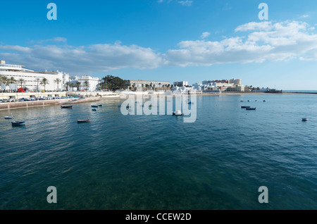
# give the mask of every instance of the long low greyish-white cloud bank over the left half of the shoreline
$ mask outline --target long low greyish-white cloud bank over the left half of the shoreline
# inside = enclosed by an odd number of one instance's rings
[[[120,68],[151,69],[163,65],[163,58],[152,49],[124,46],[120,42],[90,46],[0,46],[0,58],[6,58],[11,63],[23,63],[28,68],[58,69],[69,73],[106,72]]]

